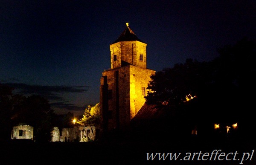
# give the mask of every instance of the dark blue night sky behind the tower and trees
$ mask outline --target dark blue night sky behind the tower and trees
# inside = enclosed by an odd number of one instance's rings
[[[49,99],[55,113],[99,102],[110,44],[130,28],[147,43],[147,67],[211,61],[217,48],[256,40],[255,0],[2,0],[0,83]]]

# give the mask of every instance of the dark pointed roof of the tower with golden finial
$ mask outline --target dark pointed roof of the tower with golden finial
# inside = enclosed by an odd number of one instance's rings
[[[140,41],[140,42],[143,42],[131,30],[131,28],[129,27],[129,23],[126,23],[125,30],[122,32],[122,34],[119,36],[119,38],[117,38],[117,40],[114,41],[113,43],[117,43],[119,41]],[[113,43],[111,43],[111,44],[113,44]],[[143,42],[143,43],[145,43],[145,42]]]

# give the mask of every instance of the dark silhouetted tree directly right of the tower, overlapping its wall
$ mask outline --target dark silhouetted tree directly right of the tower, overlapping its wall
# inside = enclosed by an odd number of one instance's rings
[[[145,96],[148,104],[155,104],[163,112],[161,122],[172,126],[173,133],[190,133],[190,126],[211,117],[206,108],[199,106],[201,98],[210,98],[205,89],[212,81],[212,63],[187,59],[184,64],[175,64],[151,76]],[[207,112],[204,118],[201,113]],[[207,118],[207,119],[206,119]]]

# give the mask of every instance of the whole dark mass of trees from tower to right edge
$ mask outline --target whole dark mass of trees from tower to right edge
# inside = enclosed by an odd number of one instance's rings
[[[180,121],[252,121],[247,119],[253,116],[256,92],[256,44],[244,38],[218,53],[209,62],[187,59],[156,72],[148,84],[147,102],[175,111],[174,119]],[[189,94],[195,97],[186,101]]]

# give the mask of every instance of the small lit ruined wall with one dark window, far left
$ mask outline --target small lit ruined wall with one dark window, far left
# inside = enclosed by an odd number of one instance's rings
[[[30,125],[18,125],[12,128],[11,139],[34,139],[34,128]]]

